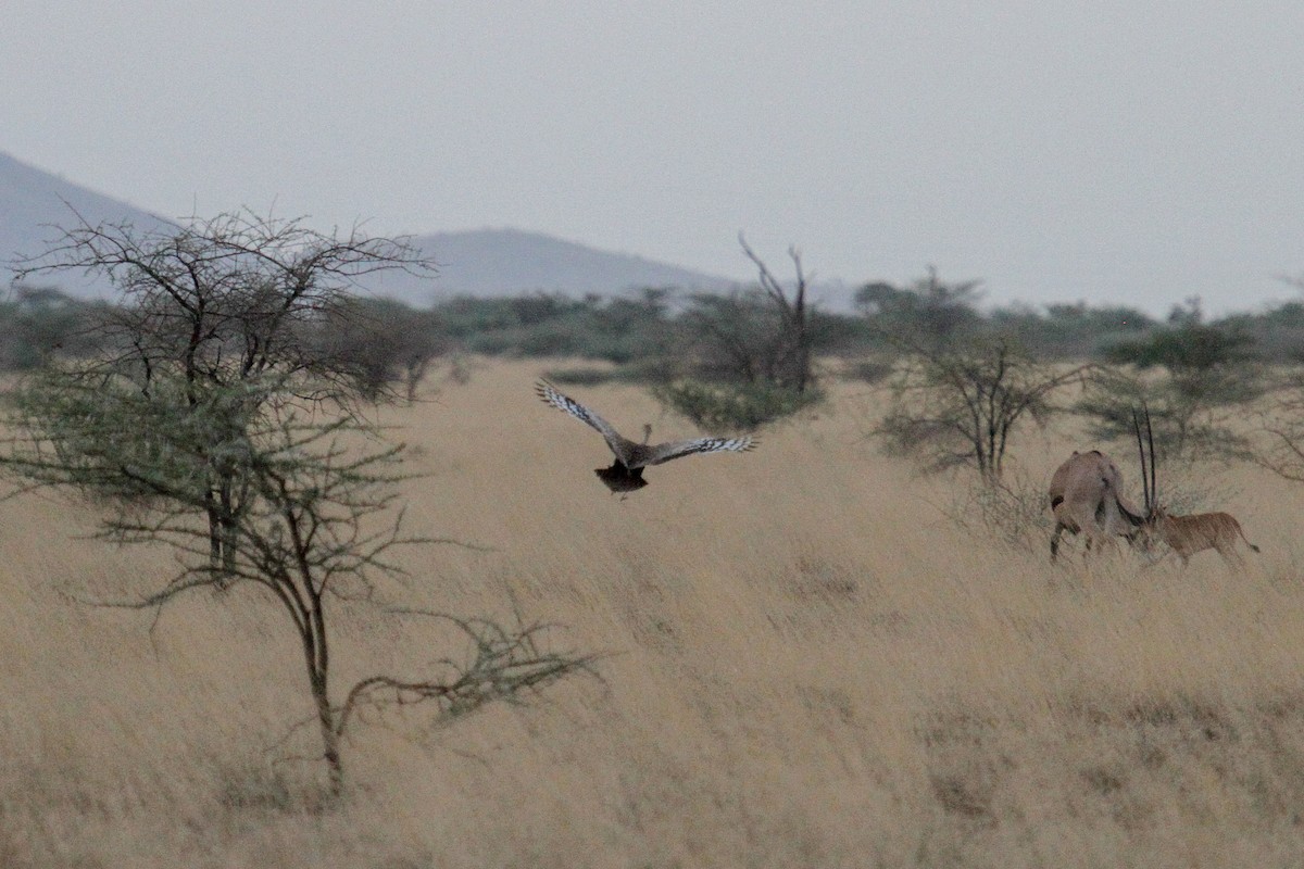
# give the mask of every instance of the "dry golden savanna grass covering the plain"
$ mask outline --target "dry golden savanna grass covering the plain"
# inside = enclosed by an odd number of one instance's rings
[[[961,530],[961,483],[880,456],[879,400],[842,383],[755,452],[619,500],[601,439],[533,396],[545,367],[477,363],[379,412],[425,474],[408,528],[484,550],[404,550],[406,585],[338,605],[333,677],[463,653],[374,606],[396,603],[552,623],[601,679],[442,728],[370,714],[330,803],[278,606],[91,606],[171,556],[86,538],[70,499],[4,502],[0,866],[1304,864],[1304,487],[1208,470],[1208,507],[1264,550],[1239,575],[1210,552],[1052,567]],[[632,387],[567,392],[631,434],[690,431]],[[1074,446],[1021,440],[1017,470],[1047,479]]]

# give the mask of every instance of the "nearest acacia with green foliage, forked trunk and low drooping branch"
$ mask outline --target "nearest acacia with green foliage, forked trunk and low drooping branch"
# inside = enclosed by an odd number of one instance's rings
[[[430,702],[455,715],[588,670],[588,657],[541,650],[540,625],[451,619],[472,641],[468,661],[447,659],[434,675],[370,676],[335,704],[333,608],[379,603],[385,580],[402,573],[390,559],[396,547],[452,541],[403,532],[402,446],[385,444],[355,416],[322,421],[319,412],[303,413],[286,400],[289,383],[282,374],[197,386],[156,373],[143,393],[133,378],[90,384],[46,373],[14,396],[7,421],[14,434],[0,466],[25,487],[133,495],[130,509],[103,516],[99,535],[170,546],[181,567],[170,578],[141,577],[146,588],[116,606],[163,607],[214,586],[248,588],[278,605],[304,655],[334,793],[344,783],[340,743],[361,705]],[[220,564],[210,558],[207,528],[196,521],[209,504],[214,468],[232,485],[235,506]]]

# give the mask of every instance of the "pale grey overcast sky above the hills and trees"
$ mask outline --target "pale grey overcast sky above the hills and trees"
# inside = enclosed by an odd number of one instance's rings
[[[168,218],[1251,310],[1304,274],[1304,3],[5,0],[0,151]]]

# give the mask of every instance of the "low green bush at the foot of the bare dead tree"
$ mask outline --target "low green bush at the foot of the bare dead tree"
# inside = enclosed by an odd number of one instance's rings
[[[798,392],[773,383],[709,384],[675,380],[652,387],[661,404],[692,420],[704,431],[726,435],[755,431],[763,425],[790,417],[822,400],[814,390]]]

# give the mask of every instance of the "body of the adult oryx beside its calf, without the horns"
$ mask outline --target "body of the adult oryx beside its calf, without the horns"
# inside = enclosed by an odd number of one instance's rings
[[[1145,517],[1121,495],[1121,489],[1123,474],[1112,459],[1099,449],[1073,451],[1051,477],[1050,504],[1055,516],[1051,562],[1059,555],[1064,532],[1084,534],[1088,551],[1093,542],[1136,539]]]

